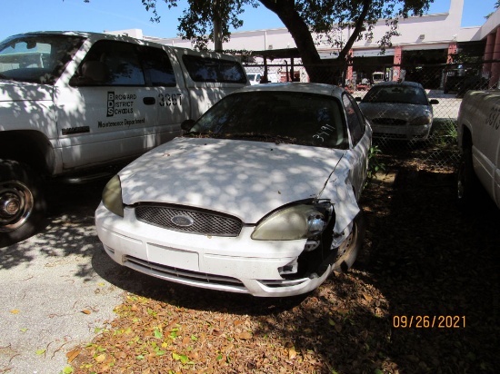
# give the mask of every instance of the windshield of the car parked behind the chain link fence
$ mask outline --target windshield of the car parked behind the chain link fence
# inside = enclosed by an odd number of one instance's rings
[[[425,91],[420,87],[394,84],[373,86],[362,103],[413,103],[428,105]]]

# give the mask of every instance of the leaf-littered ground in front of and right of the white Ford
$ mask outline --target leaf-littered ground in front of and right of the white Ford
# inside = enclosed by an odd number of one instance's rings
[[[134,271],[75,373],[500,372],[500,212],[455,204],[453,168],[388,157],[364,192],[365,248],[297,298],[197,290]]]

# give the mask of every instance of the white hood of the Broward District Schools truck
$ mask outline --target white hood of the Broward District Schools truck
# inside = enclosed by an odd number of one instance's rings
[[[50,101],[54,87],[0,79],[0,102]]]

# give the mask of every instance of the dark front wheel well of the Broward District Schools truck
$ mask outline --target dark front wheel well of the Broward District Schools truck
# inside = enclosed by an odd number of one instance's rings
[[[0,133],[0,159],[24,162],[38,172],[47,173],[54,164],[54,151],[43,133],[3,131]]]

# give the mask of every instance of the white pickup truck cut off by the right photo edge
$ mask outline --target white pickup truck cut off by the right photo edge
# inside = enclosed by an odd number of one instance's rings
[[[458,113],[459,202],[474,202],[480,182],[500,208],[500,91],[468,91]]]

